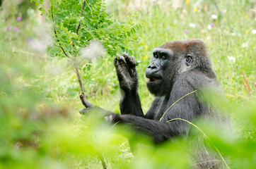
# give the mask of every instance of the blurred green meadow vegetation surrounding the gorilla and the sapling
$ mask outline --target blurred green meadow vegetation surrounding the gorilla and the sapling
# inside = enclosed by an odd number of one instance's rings
[[[136,68],[144,112],[153,100],[144,76],[152,49],[177,39],[206,43],[228,99],[216,104],[230,113],[235,136],[204,131],[230,157],[230,168],[255,168],[256,2],[109,0],[106,5],[112,18],[129,17],[141,24],[133,35],[136,40],[125,46],[140,61]],[[52,23],[41,23],[35,9],[30,1],[6,0],[1,5],[0,168],[184,168],[187,147],[180,142],[142,146],[134,158],[122,130],[80,117],[76,74],[68,59],[46,54]],[[92,104],[119,113],[112,61],[110,54],[84,61],[81,78]]]

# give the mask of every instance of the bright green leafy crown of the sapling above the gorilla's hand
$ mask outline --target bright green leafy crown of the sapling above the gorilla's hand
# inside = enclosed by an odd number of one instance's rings
[[[42,0],[37,1],[41,5],[40,11],[45,13],[42,3]],[[59,46],[66,54],[78,56],[80,49],[95,39],[105,46],[110,55],[123,51],[132,54],[127,43],[137,39],[134,33],[141,30],[141,25],[134,23],[132,18],[122,22],[113,19],[105,11],[105,1],[57,0],[51,1],[51,5],[48,21],[54,18],[56,35],[53,35],[54,45],[49,48],[50,56],[64,56]]]

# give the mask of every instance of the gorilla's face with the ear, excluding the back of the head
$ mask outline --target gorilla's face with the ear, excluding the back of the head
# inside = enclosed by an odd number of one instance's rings
[[[153,49],[151,64],[146,68],[149,91],[156,96],[170,94],[175,77],[195,67],[194,57],[182,41],[168,42]]]

